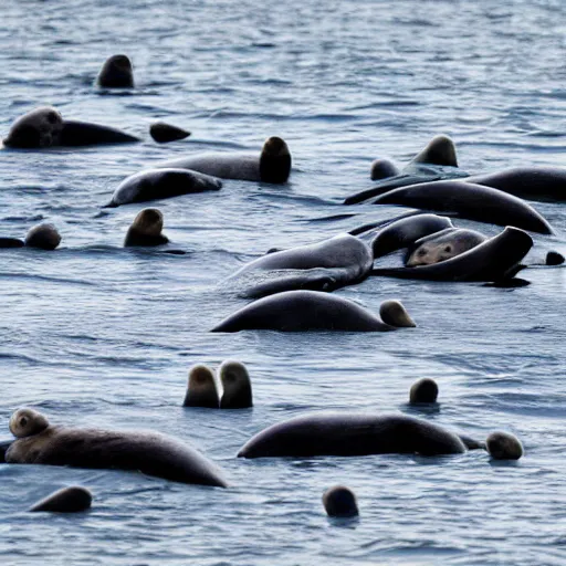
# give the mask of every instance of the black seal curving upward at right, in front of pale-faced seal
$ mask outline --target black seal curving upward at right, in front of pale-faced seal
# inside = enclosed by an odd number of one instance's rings
[[[533,239],[518,228],[507,227],[485,242],[431,265],[381,268],[371,275],[428,281],[502,281],[513,277],[524,265],[520,261],[533,247]]]

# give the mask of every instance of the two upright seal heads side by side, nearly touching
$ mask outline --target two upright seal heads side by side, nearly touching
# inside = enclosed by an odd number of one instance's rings
[[[222,395],[219,395],[219,385]],[[212,409],[247,409],[253,406],[252,384],[248,369],[240,361],[222,361],[218,379],[212,369],[197,364],[189,370],[189,384],[184,407],[209,407]]]

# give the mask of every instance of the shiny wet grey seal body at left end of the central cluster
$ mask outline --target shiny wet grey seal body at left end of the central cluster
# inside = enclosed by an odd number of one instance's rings
[[[228,282],[245,297],[310,289],[333,291],[364,281],[374,264],[368,244],[350,234],[273,251],[245,264]]]

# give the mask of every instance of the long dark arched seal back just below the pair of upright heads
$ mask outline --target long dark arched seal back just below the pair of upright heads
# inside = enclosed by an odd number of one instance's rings
[[[251,438],[239,458],[460,454],[462,439],[406,415],[308,413],[273,424]]]

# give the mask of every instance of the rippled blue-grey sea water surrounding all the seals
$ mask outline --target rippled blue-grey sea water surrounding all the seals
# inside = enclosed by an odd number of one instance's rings
[[[52,104],[145,139],[0,153],[1,233],[46,219],[63,234],[55,253],[1,253],[2,436],[22,405],[53,422],[150,428],[190,441],[233,484],[0,465],[2,564],[566,563],[564,269],[528,270],[532,285],[515,290],[371,279],[339,292],[373,311],[402,300],[415,331],[208,333],[244,304],[219,286],[243,262],[399,213],[339,205],[371,186],[376,157],[403,164],[446,133],[471,172],[566,165],[565,4],[54,0],[4,2],[0,15],[2,135]],[[120,52],[137,87],[97,91],[99,66]],[[147,134],[156,118],[193,135],[159,147]],[[189,253],[120,249],[144,206],[99,207],[125,176],[188,151],[259,150],[270,135],[293,154],[287,186],[227,181],[159,202]],[[565,253],[564,205],[535,207],[558,235],[536,237],[533,258]],[[313,221],[340,212],[358,216]],[[188,367],[230,357],[248,364],[255,407],[182,409]],[[525,458],[234,458],[303,411],[407,411],[418,377],[441,389],[427,418],[480,438],[511,430]],[[357,523],[324,515],[321,494],[338,482],[358,495]],[[24,512],[75,483],[94,492],[92,512]]]

